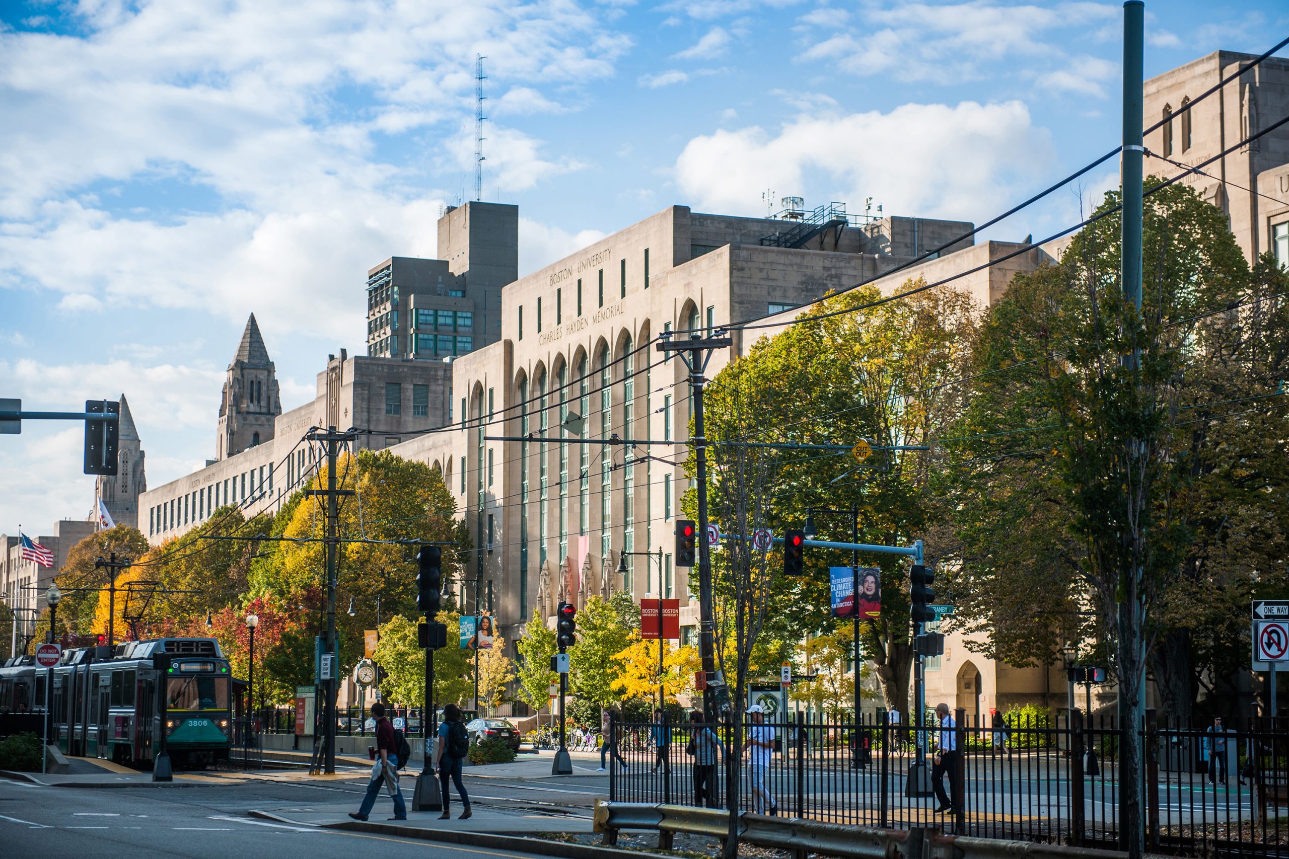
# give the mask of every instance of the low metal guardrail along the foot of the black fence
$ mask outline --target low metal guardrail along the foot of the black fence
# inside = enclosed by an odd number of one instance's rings
[[[597,802],[596,832],[605,844],[616,844],[619,829],[656,831],[663,836],[677,832],[724,840],[730,835],[730,813],[686,805],[648,802]],[[878,829],[821,823],[802,818],[767,817],[742,811],[739,815],[739,841],[758,847],[791,850],[844,859],[1123,859],[1121,853],[942,835],[933,829]],[[668,845],[669,846],[669,845]]]

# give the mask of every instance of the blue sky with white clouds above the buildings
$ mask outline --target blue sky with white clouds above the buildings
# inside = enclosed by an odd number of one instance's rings
[[[363,349],[362,281],[518,203],[521,273],[763,192],[984,222],[1119,139],[1120,6],[896,0],[0,4],[0,395],[122,390],[160,486],[213,453],[255,312],[287,408]],[[1146,73],[1261,53],[1276,3],[1147,3]],[[991,231],[1043,236],[1115,182]],[[986,237],[989,237],[986,236]],[[84,518],[80,428],[0,437],[0,531]]]

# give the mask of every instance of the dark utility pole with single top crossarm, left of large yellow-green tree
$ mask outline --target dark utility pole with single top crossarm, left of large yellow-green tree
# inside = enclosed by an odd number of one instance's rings
[[[690,398],[693,403],[693,438],[690,443],[697,455],[699,482],[699,657],[703,661],[703,674],[706,676],[706,689],[703,690],[703,712],[708,721],[715,720],[715,635],[712,616],[712,547],[708,546],[708,439],[703,428],[703,389],[706,379],[703,372],[715,349],[733,345],[730,337],[704,337],[699,331],[690,332],[688,341],[673,341],[670,334],[663,332],[657,350],[675,353],[690,370]]]

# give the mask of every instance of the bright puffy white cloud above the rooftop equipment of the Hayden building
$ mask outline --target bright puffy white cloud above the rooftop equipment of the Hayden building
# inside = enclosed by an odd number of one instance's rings
[[[777,134],[751,126],[693,138],[678,188],[705,211],[755,214],[755,188],[831,200],[873,196],[892,214],[980,219],[1053,160],[1020,102],[905,104],[889,113],[802,116]],[[971,165],[971,169],[963,169]]]

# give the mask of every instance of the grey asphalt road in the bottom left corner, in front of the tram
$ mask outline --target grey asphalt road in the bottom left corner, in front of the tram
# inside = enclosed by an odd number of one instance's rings
[[[41,787],[0,779],[0,859],[128,855],[130,859],[481,859],[521,853],[255,820],[249,809],[309,807],[352,797],[361,783],[246,782],[156,788]],[[407,791],[405,791],[407,792]],[[504,788],[492,791],[501,795]],[[410,793],[409,793],[410,796]],[[482,797],[481,797],[482,798]],[[376,813],[388,810],[388,800]],[[374,815],[375,817],[375,815]]]

